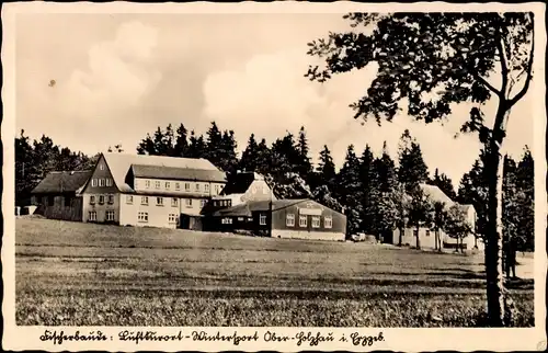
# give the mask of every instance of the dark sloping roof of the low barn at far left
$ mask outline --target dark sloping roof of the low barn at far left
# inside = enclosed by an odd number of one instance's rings
[[[32,191],[33,194],[56,194],[77,192],[82,187],[92,171],[55,171],[49,172],[36,187]]]

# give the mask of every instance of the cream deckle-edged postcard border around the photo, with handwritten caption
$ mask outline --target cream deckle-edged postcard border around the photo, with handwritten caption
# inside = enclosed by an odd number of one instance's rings
[[[79,330],[81,333],[90,331],[101,331],[106,341],[67,341],[64,344],[54,345],[52,341],[43,342],[41,337],[44,334],[45,327],[16,327],[15,326],[15,291],[14,291],[14,156],[12,141],[15,136],[15,89],[14,89],[14,31],[15,16],[18,13],[269,13],[269,12],[294,12],[294,13],[329,13],[339,12],[341,14],[351,11],[363,12],[392,12],[392,11],[429,11],[429,12],[449,12],[449,11],[534,11],[537,26],[535,33],[539,43],[535,53],[535,76],[538,78],[545,76],[543,58],[546,56],[546,29],[545,24],[545,4],[521,3],[460,3],[449,4],[443,2],[416,2],[416,3],[384,3],[384,4],[364,4],[353,2],[334,3],[307,3],[294,1],[277,1],[271,3],[212,3],[212,2],[192,2],[192,3],[155,3],[138,4],[128,2],[110,3],[47,3],[41,1],[25,3],[7,3],[2,5],[3,24],[3,45],[2,45],[2,66],[3,66],[3,90],[2,101],[4,104],[4,119],[2,123],[2,141],[4,141],[4,164],[3,178],[4,189],[2,196],[4,232],[2,247],[3,284],[4,297],[2,303],[3,312],[3,342],[5,350],[44,350],[44,351],[83,351],[83,350],[106,350],[106,351],[372,351],[372,350],[393,350],[404,352],[435,351],[435,350],[455,350],[455,351],[535,351],[546,350],[546,307],[545,307],[545,287],[547,258],[544,252],[546,237],[546,156],[545,156],[545,132],[546,132],[546,86],[543,80],[536,80],[535,87],[532,87],[529,94],[535,94],[535,130],[534,130],[534,155],[539,162],[535,163],[535,232],[538,235],[535,239],[535,327],[524,329],[383,329],[383,328],[117,328],[117,327],[57,327],[49,330],[64,330],[70,334]],[[192,331],[204,330],[208,334],[215,335],[217,331],[221,334],[230,335],[235,331],[238,334],[254,334],[258,332],[260,340],[258,342],[242,341],[239,345],[233,342],[195,342],[192,339],[182,341],[153,342],[146,341],[135,344],[135,342],[123,342],[117,340],[118,332],[147,331],[153,330],[158,334],[178,334],[182,331],[183,335],[190,335]],[[333,341],[320,342],[318,345],[310,345],[304,342],[297,345],[296,341],[272,342],[262,338],[270,332],[276,332],[278,335],[293,335],[298,332],[311,332],[313,335],[320,333],[329,337],[330,333],[335,338]],[[377,337],[383,332],[384,340],[377,341],[373,345],[354,345],[352,340],[341,342],[339,340],[343,334],[349,338],[353,332],[359,335]]]

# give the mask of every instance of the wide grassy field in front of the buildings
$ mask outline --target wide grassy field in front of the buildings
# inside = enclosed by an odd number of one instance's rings
[[[481,326],[481,254],[16,220],[16,322]],[[533,281],[512,284],[529,327]]]

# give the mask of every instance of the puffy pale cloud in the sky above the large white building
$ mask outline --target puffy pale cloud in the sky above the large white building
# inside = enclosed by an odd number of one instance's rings
[[[160,71],[148,65],[157,41],[153,27],[128,22],[118,27],[114,41],[93,45],[89,68],[75,70],[64,87],[64,96],[73,98],[67,100],[67,113],[98,118],[114,105],[137,105],[161,79]],[[113,117],[109,115],[103,116]]]

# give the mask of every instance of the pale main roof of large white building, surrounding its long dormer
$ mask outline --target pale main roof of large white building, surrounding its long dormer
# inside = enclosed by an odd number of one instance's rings
[[[104,153],[104,159],[109,169],[111,170],[114,183],[121,192],[133,192],[134,190],[126,183],[126,175],[132,166],[149,166],[156,167],[157,170],[147,169],[146,171],[153,171],[158,174],[160,171],[173,173],[174,169],[192,169],[208,171],[215,175],[215,180],[220,181],[221,172],[210,161],[203,158],[179,158],[179,157],[163,157],[163,156],[145,156],[145,155],[127,155],[127,153]],[[226,176],[225,176],[226,178]]]

